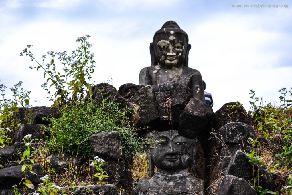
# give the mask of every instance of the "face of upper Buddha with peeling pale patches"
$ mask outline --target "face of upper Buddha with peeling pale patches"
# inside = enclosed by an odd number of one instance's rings
[[[187,37],[173,31],[159,33],[154,37],[153,46],[159,64],[180,66],[187,53]]]

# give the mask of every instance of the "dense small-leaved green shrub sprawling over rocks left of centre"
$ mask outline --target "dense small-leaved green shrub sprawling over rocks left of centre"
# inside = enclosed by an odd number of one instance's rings
[[[94,106],[93,100],[90,100],[60,107],[60,118],[51,119],[50,139],[47,142],[49,149],[92,156],[88,143],[92,134],[118,131],[124,155],[138,154],[142,151],[142,144],[136,138],[136,131],[126,116],[129,110],[122,110],[118,106],[118,103],[107,100]]]

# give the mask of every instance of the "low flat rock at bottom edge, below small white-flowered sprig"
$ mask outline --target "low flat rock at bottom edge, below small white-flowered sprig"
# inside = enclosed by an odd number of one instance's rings
[[[92,192],[86,193],[87,189],[90,188]],[[115,185],[105,184],[105,185],[89,185],[78,188],[74,195],[118,195],[118,191]]]

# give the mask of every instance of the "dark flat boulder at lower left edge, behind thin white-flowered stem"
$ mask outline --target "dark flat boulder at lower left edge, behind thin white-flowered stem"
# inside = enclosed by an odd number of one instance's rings
[[[0,169],[0,188],[12,187],[14,184],[19,184],[22,178],[25,178],[25,173],[21,171],[22,165]],[[27,173],[26,178],[34,184],[40,184],[40,177],[44,175],[41,165],[32,165],[32,172]]]

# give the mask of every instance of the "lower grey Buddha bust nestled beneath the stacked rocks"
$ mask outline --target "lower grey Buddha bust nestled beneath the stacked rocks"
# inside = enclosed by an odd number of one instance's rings
[[[204,194],[203,180],[190,175],[188,167],[194,139],[178,135],[178,131],[153,131],[149,137],[158,140],[149,147],[149,177],[138,182],[139,195]],[[154,174],[154,165],[157,172]]]

